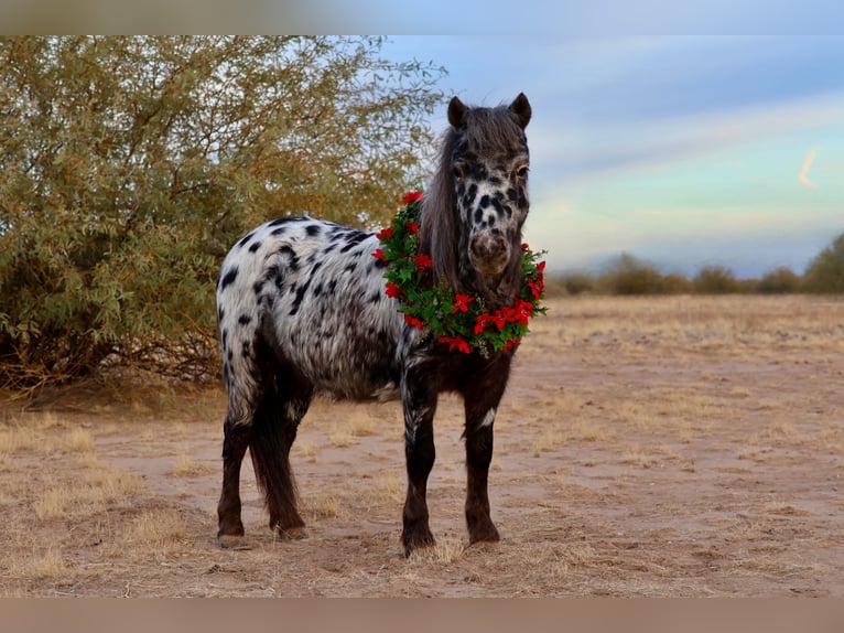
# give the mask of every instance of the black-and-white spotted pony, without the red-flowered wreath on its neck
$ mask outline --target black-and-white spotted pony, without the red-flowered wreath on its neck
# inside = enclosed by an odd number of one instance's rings
[[[422,202],[420,250],[431,256],[435,279],[483,298],[490,311],[511,304],[522,285],[530,117],[523,94],[495,108],[469,108],[454,97],[440,167]],[[405,555],[433,545],[425,492],[443,390],[462,394],[465,403],[469,541],[498,540],[487,473],[515,348],[488,357],[448,352],[407,325],[385,293],[385,265],[371,257],[378,247],[369,232],[284,217],[246,235],[226,257],[217,285],[228,389],[223,547],[244,535],[239,480],[247,448],[270,528],[282,538],[303,536],[289,453],[315,394],[355,400],[401,395],[408,472],[402,544]]]

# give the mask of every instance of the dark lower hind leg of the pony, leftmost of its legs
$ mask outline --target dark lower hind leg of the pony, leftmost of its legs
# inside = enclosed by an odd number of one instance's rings
[[[226,416],[223,440],[223,491],[217,505],[217,541],[220,547],[237,547],[244,537],[240,519],[240,464],[252,437],[250,422]]]

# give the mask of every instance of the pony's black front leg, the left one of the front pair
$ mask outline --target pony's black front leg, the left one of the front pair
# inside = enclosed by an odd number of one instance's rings
[[[428,525],[426,493],[428,475],[436,457],[433,421],[437,389],[429,380],[414,371],[407,372],[402,380],[404,455],[408,468],[408,494],[401,533],[404,556],[410,556],[414,549],[434,545],[434,536]]]

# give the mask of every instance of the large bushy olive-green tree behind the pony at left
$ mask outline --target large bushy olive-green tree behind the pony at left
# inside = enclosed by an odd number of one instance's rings
[[[423,181],[444,71],[370,37],[0,39],[0,387],[216,369],[248,228],[375,225]]]

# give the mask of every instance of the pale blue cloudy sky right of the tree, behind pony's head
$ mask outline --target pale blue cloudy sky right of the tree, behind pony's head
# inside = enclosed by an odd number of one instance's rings
[[[398,35],[382,53],[444,66],[467,103],[528,95],[526,236],[552,268],[627,251],[802,272],[844,232],[844,36]]]

